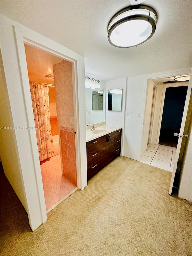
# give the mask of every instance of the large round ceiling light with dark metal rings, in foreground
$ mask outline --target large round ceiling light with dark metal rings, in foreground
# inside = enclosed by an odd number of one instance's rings
[[[108,25],[108,40],[128,48],[144,43],[155,33],[157,13],[145,5],[129,6],[116,13]]]

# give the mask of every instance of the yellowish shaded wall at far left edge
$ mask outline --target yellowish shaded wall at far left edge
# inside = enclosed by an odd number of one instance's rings
[[[4,69],[1,59],[1,119],[0,126],[13,127],[13,120],[10,111],[8,92],[4,77]],[[22,174],[20,172],[19,159],[16,154],[16,143],[14,129],[0,129],[1,134],[1,159],[4,168],[5,176],[10,182],[13,190],[21,201],[23,207],[27,211],[26,195],[22,182]]]

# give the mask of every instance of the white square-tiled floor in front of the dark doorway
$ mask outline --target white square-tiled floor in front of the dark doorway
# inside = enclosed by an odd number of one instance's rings
[[[148,144],[141,162],[172,172],[176,149],[170,146]]]

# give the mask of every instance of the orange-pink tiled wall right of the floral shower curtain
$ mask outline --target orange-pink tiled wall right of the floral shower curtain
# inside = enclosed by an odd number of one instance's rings
[[[53,73],[63,174],[76,185],[75,130],[70,123],[70,118],[74,119],[71,62],[63,60],[53,65]]]

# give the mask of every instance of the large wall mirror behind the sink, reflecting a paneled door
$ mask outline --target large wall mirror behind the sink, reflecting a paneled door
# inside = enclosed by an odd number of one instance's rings
[[[105,122],[105,95],[104,89],[85,88],[86,125]]]

